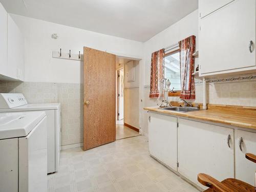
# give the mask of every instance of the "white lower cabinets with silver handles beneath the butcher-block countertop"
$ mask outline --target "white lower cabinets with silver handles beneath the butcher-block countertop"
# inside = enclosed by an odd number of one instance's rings
[[[148,146],[153,157],[201,188],[207,187],[198,182],[199,173],[254,185],[256,163],[245,154],[256,154],[255,131],[150,112]]]

